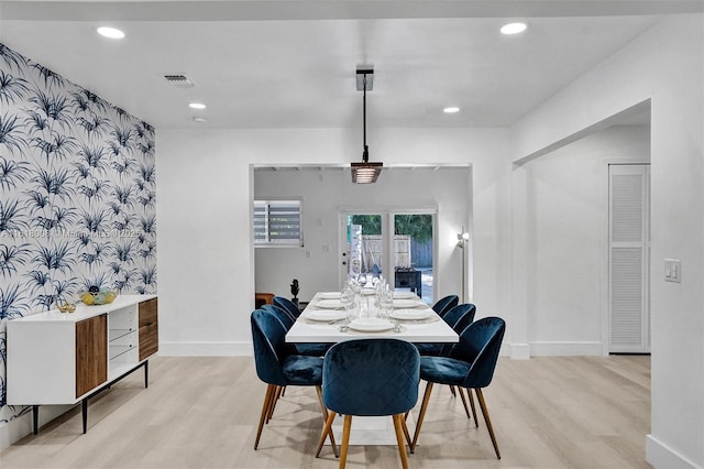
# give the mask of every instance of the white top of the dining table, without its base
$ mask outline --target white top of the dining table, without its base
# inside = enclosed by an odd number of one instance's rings
[[[311,320],[308,315],[315,310],[324,310],[316,307],[316,302],[321,299],[320,294],[310,301],[306,309],[300,314],[294,326],[286,334],[287,342],[340,342],[343,340],[354,340],[362,338],[392,338],[408,340],[410,342],[457,342],[459,337],[448,324],[442,320],[428,305],[414,307],[413,310],[429,309],[432,315],[427,319],[419,320],[396,320],[402,327],[400,332],[386,330],[381,332],[363,332],[353,329],[340,331],[340,326],[344,320],[337,323],[324,320]],[[328,309],[330,310],[330,309]],[[331,324],[332,323],[332,324]]]

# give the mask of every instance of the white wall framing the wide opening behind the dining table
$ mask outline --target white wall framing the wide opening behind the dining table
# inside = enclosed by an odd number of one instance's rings
[[[250,165],[349,164],[361,160],[358,137],[356,129],[157,131],[162,355],[252,352]],[[475,280],[474,301],[495,315],[507,313],[508,285],[497,281],[507,277],[506,141],[495,129],[377,129],[369,139],[371,160],[385,164],[472,164],[474,265],[493,275]],[[458,227],[440,229],[455,236]]]

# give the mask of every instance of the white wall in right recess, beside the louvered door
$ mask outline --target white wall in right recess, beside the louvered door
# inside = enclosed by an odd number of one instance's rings
[[[531,356],[607,351],[608,164],[636,162],[650,162],[649,128],[609,128],[526,165]]]

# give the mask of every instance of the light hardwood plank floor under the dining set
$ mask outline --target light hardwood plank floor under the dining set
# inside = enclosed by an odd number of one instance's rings
[[[252,358],[155,358],[148,389],[138,371],[91,400],[86,435],[77,406],[0,452],[0,468],[337,468],[329,446],[314,457],[322,425],[314,389],[288,389],[253,449],[265,389]],[[502,358],[484,395],[501,460],[481,416],[476,428],[436,386],[409,467],[650,467],[649,357]],[[353,446],[348,467],[400,459],[395,446]]]

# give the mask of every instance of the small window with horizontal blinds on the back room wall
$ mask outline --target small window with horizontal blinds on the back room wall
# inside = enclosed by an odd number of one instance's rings
[[[304,246],[300,200],[254,200],[254,246]]]

